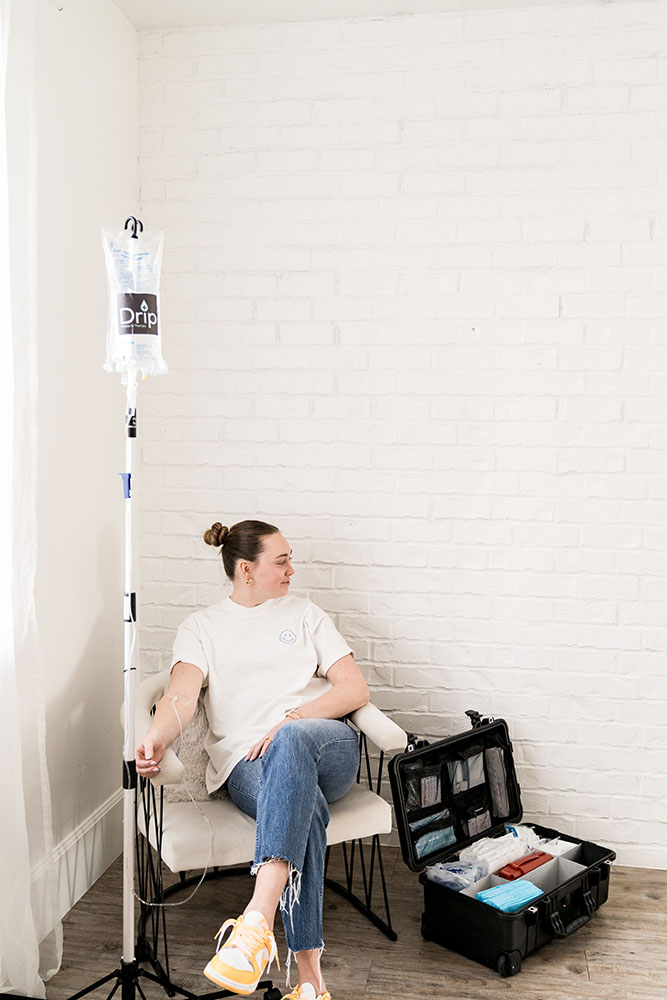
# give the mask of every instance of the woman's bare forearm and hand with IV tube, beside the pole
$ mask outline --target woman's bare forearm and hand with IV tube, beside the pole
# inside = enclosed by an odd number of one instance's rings
[[[171,671],[169,687],[157,703],[155,715],[143,740],[137,744],[137,774],[150,778],[160,770],[164,752],[181,735],[195,714],[204,675],[194,663],[179,660]]]

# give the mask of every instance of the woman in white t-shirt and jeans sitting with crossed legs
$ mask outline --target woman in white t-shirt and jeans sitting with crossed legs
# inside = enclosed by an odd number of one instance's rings
[[[278,528],[216,523],[204,541],[221,547],[233,590],[179,628],[169,688],[137,746],[137,772],[159,771],[205,686],[208,790],[226,783],[239,809],[256,818],[257,840],[252,898],[223,923],[204,974],[223,989],[253,993],[276,957],[280,905],[288,970],[293,953],[299,971],[288,996],[330,1000],[320,970],[327,803],[356,779],[357,739],[340,720],[368,702],[368,687],[331,619],[290,596],[292,552]]]

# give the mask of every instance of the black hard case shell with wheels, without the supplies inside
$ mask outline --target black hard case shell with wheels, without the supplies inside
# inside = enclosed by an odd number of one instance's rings
[[[427,865],[454,860],[459,851],[482,837],[505,834],[505,825],[518,823],[523,815],[507,723],[502,719],[481,719],[476,712],[466,714],[471,718],[472,730],[433,744],[413,741],[405,753],[398,754],[389,763],[401,850],[408,867],[421,872],[419,880],[424,886],[422,936],[496,969],[502,976],[513,976],[521,970],[521,962],[527,955],[554,938],[573,934],[588,923],[607,899],[610,867],[616,855],[608,848],[535,826],[541,836],[571,841],[572,848],[567,857],[554,858],[541,872],[537,869],[525,876],[538,884],[544,895],[517,913],[503,913],[475,898],[477,891],[495,884],[489,876],[461,892],[428,879],[423,873]],[[448,765],[454,766],[453,762],[470,759],[471,752],[491,747],[501,748],[505,765],[508,815],[503,817],[493,813],[486,764],[481,784],[463,793],[452,793]],[[439,802],[409,808],[408,780],[420,769],[422,773],[440,775]],[[414,800],[410,805],[414,806]],[[466,816],[474,816],[485,806],[490,826],[470,835]],[[420,834],[413,833],[409,824],[443,808],[448,808],[454,817],[456,842],[418,856],[416,845]]]

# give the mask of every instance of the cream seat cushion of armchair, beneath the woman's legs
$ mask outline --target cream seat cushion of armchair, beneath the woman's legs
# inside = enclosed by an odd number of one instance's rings
[[[388,802],[361,785],[329,806],[327,843],[391,832]],[[209,826],[210,824],[210,826]],[[138,825],[145,835],[141,810]],[[150,841],[155,847],[151,825]],[[231,799],[206,802],[165,802],[162,860],[172,872],[250,863],[255,852],[255,821]]]

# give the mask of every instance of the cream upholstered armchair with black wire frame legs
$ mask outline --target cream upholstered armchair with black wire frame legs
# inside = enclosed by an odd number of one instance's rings
[[[153,706],[162,697],[168,683],[169,673],[164,671],[153,674],[137,687],[138,737],[148,729]],[[327,828],[327,867],[331,847],[341,844],[345,878],[343,882],[339,882],[327,876],[325,884],[348,899],[391,940],[396,940],[391,926],[380,845],[380,835],[391,832],[392,814],[391,806],[379,793],[384,755],[404,750],[407,736],[372,704],[352,712],[348,721],[359,733],[360,779],[363,772],[365,780],[363,783],[359,780],[342,799],[329,806],[331,819]],[[200,881],[203,869],[207,870],[206,878],[222,878],[240,872],[247,873],[248,865],[252,862],[255,850],[254,819],[242,813],[224,795],[206,795],[203,777],[207,757],[202,736],[207,727],[200,700],[195,717],[184,734],[184,742],[188,734],[194,734],[189,747],[181,746],[179,754],[172,748],[167,750],[160,763],[160,773],[150,780],[143,779],[138,783],[138,878],[142,899],[161,902],[173,892]],[[379,750],[375,775],[369,740]],[[188,791],[178,791],[182,783],[185,783]],[[174,798],[180,801],[173,801]],[[364,844],[364,840],[369,839],[370,844]],[[164,887],[162,867],[156,855],[170,871],[178,873],[179,882]],[[357,857],[360,872],[356,872],[355,883]],[[244,867],[239,868],[241,865]],[[197,874],[192,874],[193,872]],[[379,873],[381,883],[384,917],[374,909],[376,873]],[[357,883],[360,883],[359,891],[354,888]],[[164,910],[160,907],[143,906],[139,920],[138,955],[163,973],[157,956],[160,939],[163,941],[166,979],[169,981]],[[170,985],[173,986],[171,983]],[[178,990],[176,987],[175,989]]]

